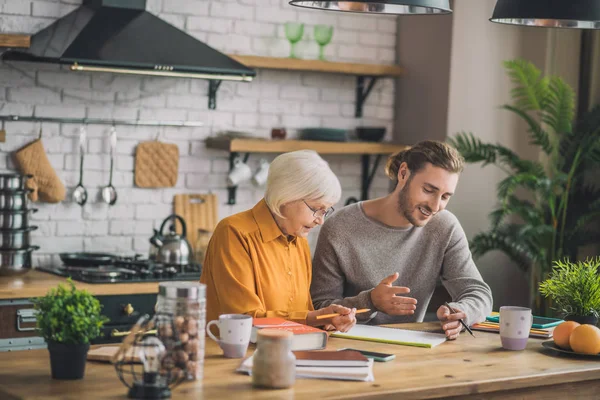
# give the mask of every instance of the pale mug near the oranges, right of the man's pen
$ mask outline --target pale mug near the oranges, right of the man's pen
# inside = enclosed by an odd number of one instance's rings
[[[529,330],[533,324],[531,308],[500,307],[500,341],[507,350],[523,350],[527,347]]]

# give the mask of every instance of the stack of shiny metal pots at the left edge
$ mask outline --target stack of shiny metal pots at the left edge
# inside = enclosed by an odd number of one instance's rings
[[[31,269],[30,233],[37,226],[29,225],[29,216],[36,209],[28,208],[25,182],[31,175],[0,174],[0,275],[24,274]]]

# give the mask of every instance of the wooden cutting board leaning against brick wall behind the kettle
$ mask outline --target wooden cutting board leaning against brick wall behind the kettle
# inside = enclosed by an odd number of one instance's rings
[[[217,196],[214,194],[178,194],[173,197],[175,214],[185,220],[187,239],[195,248],[198,229],[214,231],[218,222]],[[177,232],[181,234],[181,226],[176,223]]]

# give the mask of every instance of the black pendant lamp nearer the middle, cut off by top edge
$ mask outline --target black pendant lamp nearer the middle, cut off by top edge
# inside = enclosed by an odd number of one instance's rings
[[[360,12],[373,14],[449,14],[449,0],[291,0],[298,7],[317,8],[330,11]]]

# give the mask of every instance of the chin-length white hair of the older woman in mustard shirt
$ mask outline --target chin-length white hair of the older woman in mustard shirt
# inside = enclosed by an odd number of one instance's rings
[[[283,218],[281,206],[298,200],[336,204],[342,186],[329,164],[315,151],[299,150],[276,157],[269,167],[265,201]]]

